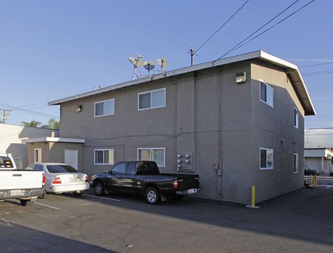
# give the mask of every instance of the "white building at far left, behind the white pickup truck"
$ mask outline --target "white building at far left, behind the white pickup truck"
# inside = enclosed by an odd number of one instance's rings
[[[38,138],[42,136],[59,136],[59,130],[23,127],[22,125],[0,124],[0,153],[12,154],[17,168],[25,168],[28,163],[28,144],[23,139]]]

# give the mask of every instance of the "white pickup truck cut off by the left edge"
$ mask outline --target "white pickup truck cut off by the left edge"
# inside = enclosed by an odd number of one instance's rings
[[[27,206],[44,193],[43,172],[18,170],[11,155],[0,153],[0,201],[19,199],[23,206]]]

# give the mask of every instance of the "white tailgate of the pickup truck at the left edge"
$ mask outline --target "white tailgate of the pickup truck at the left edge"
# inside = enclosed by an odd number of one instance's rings
[[[0,170],[1,189],[41,188],[43,172],[40,171],[7,171]]]

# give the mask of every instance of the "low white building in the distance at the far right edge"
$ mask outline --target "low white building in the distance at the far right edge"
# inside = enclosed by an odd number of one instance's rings
[[[328,174],[333,172],[332,149],[313,148],[304,151],[305,170],[317,171],[320,174]]]

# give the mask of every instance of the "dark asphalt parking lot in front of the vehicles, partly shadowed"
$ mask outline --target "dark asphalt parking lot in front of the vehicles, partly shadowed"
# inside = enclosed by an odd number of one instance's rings
[[[1,252],[332,252],[333,180],[245,205],[185,197],[49,195],[0,202]]]

